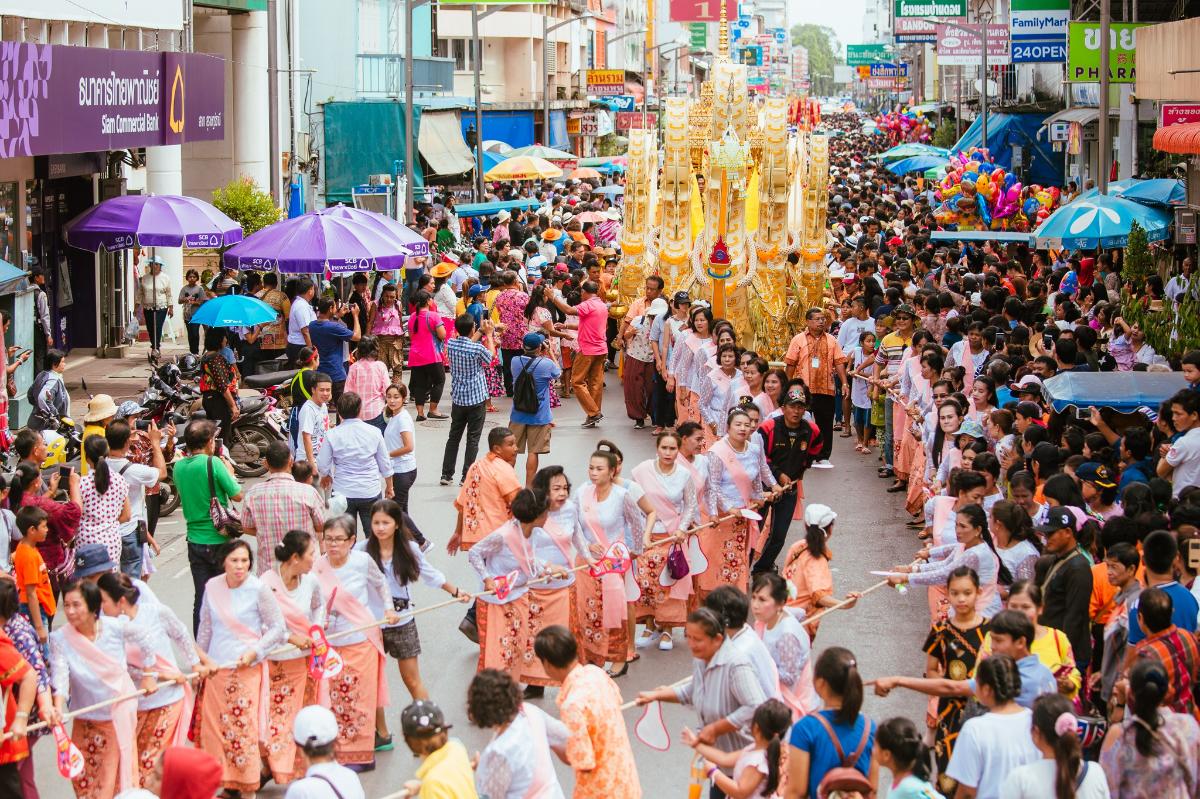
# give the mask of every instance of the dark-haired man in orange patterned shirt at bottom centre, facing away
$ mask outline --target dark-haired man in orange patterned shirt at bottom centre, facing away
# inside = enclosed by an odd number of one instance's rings
[[[566,726],[575,795],[641,799],[634,750],[620,715],[620,689],[599,666],[580,662],[575,636],[564,626],[542,629],[533,649],[546,674],[563,684],[556,703]]]

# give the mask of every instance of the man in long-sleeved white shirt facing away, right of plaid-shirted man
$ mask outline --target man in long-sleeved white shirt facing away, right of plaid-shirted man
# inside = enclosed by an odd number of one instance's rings
[[[325,433],[325,444],[317,453],[320,486],[332,487],[346,498],[346,512],[358,518],[364,530],[371,529],[371,506],[383,495],[390,499],[391,456],[383,433],[374,425],[359,419],[362,398],[347,391],[337,398],[337,415],[342,423]]]

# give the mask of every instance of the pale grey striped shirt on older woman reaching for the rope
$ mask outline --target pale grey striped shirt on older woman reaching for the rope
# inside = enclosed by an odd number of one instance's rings
[[[718,737],[716,747],[736,752],[754,743],[750,721],[755,709],[767,701],[750,659],[732,639],[726,638],[716,654],[706,663],[692,661],[691,681],[674,689],[679,704],[690,704],[702,725],[727,719],[738,732]]]

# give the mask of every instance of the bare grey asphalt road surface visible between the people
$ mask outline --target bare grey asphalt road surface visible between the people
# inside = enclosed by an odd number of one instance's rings
[[[509,401],[500,398],[497,403],[500,410],[488,414],[488,428],[508,419]],[[563,407],[554,411],[557,427],[553,431],[551,453],[542,456],[541,464],[564,465],[572,482],[578,485],[587,479],[586,455],[602,438],[612,439],[623,450],[626,474],[632,465],[653,455],[649,428],[635,431],[632,422],[625,419],[620,384],[614,372],[608,373],[605,411],[606,416],[598,428],[583,429],[580,427],[583,414],[578,404],[574,398],[565,398]],[[410,500],[413,516],[425,535],[434,541],[434,547],[428,553],[431,561],[444,570],[455,584],[478,590],[478,578],[466,557],[451,558],[444,546],[454,531],[452,503],[458,491],[457,485],[438,486],[449,421],[418,422],[416,427],[418,480]],[[907,513],[904,511],[902,494],[884,492],[887,481],[876,477],[877,455],[854,452],[852,441],[853,439],[835,435],[832,458],[834,468],[812,469],[804,479],[806,501],[824,503],[838,512],[830,546],[834,553],[834,587],[839,595],[871,585],[878,581],[870,573],[871,570],[908,563],[918,548],[916,536],[905,528]],[[486,450],[486,429],[481,450]],[[517,474],[523,475],[523,469],[522,456],[517,463]],[[803,525],[793,523],[787,546],[802,534]],[[163,551],[155,564],[157,572],[151,577],[150,585],[186,621],[192,607],[192,583],[184,522],[179,511],[160,522],[158,541],[163,545]],[[414,599],[420,607],[442,601],[445,595],[418,585],[414,588]],[[422,647],[420,666],[431,698],[442,705],[454,723],[451,734],[474,753],[486,745],[488,735],[473,728],[467,721],[466,690],[475,673],[479,650],[458,632],[461,617],[462,611],[451,606],[418,618]],[[924,667],[920,645],[928,631],[928,619],[922,589],[900,594],[884,587],[865,596],[853,609],[826,617],[815,650],[820,653],[830,645],[850,648],[858,656],[864,679],[900,673],[918,675]],[[58,620],[58,624],[64,623],[61,618]],[[691,656],[682,633],[677,632],[672,651],[660,651],[656,648],[642,650],[641,660],[617,681],[624,699],[629,701],[640,690],[666,685],[690,673]],[[362,775],[368,799],[398,791],[404,780],[413,777],[418,765],[398,734],[400,711],[408,703],[409,696],[395,666],[389,672],[389,680],[392,705],[388,709],[388,721],[395,734],[396,749],[380,753],[376,770]],[[536,702],[551,714],[557,714],[554,693],[554,690],[547,690],[546,697]],[[868,687],[865,710],[876,721],[906,715],[923,726],[925,701],[922,696],[905,691],[896,691],[890,697],[880,699],[871,696]],[[630,729],[638,714],[640,710],[636,709],[626,711]],[[664,719],[671,735],[671,746],[666,752],[654,751],[634,740],[637,777],[644,795],[683,795],[686,789],[692,752],[680,743],[679,731],[686,726],[695,727],[696,716],[686,708],[666,705]],[[41,795],[46,799],[67,799],[73,793],[55,771],[53,756],[53,740],[41,740],[35,749]],[[570,795],[570,769],[558,764],[558,774],[564,793]],[[283,793],[282,788],[272,783],[259,795],[282,797]]]

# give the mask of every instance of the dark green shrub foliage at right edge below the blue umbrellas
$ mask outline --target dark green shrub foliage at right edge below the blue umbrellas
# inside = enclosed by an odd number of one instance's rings
[[[1154,257],[1146,240],[1146,232],[1136,222],[1129,228],[1124,266],[1121,277],[1121,316],[1126,323],[1138,325],[1146,334],[1146,343],[1164,358],[1175,360],[1186,352],[1200,348],[1200,281],[1194,276],[1186,287],[1180,304],[1164,300],[1159,307],[1146,295],[1146,280],[1156,274]]]

